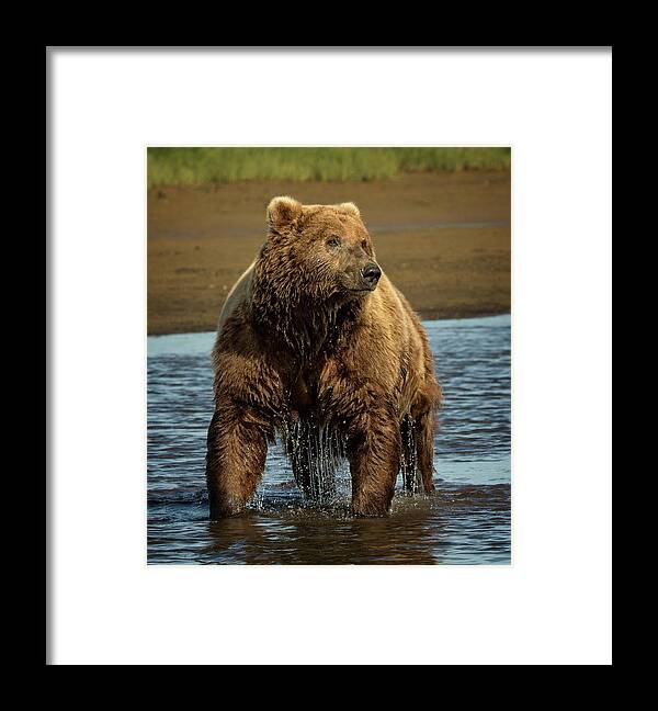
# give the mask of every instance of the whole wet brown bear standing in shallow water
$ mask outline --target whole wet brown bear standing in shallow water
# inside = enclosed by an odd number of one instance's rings
[[[407,490],[422,481],[432,493],[432,353],[356,205],[274,198],[266,216],[266,241],[226,300],[213,350],[211,518],[245,509],[276,432],[310,497],[330,495],[349,460],[356,516],[388,511],[400,469]]]

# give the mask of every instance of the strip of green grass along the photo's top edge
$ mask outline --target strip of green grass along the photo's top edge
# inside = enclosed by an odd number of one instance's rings
[[[148,187],[383,180],[405,172],[509,167],[509,148],[149,148]]]

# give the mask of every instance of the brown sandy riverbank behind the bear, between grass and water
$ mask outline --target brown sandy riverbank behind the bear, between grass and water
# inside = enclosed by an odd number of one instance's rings
[[[148,332],[214,330],[226,294],[264,239],[274,195],[355,202],[377,260],[426,318],[510,309],[508,172],[382,182],[243,182],[148,193]]]

